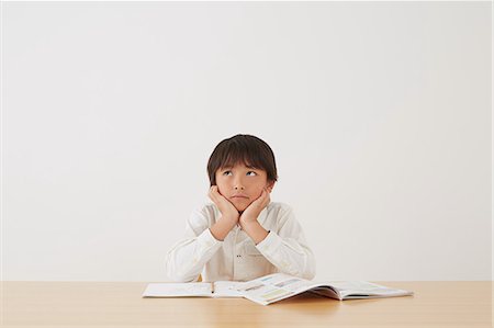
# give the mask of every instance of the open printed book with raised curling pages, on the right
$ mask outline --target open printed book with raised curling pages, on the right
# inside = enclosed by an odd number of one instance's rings
[[[340,301],[413,295],[413,292],[390,289],[364,281],[314,282],[283,273],[265,275],[234,289],[245,298],[261,305],[268,305],[304,292]]]

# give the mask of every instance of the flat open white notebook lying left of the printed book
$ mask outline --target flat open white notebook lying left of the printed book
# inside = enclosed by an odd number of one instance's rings
[[[238,281],[150,283],[143,297],[244,297],[235,287]]]

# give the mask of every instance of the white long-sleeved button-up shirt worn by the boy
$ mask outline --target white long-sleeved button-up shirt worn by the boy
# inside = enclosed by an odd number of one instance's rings
[[[289,205],[271,202],[261,211],[258,222],[269,234],[258,245],[238,225],[223,241],[214,238],[209,228],[220,217],[214,203],[192,213],[184,237],[166,256],[167,281],[197,281],[201,272],[204,282],[248,281],[274,272],[314,278],[314,255]]]

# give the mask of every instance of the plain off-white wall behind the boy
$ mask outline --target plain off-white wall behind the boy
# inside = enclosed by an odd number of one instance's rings
[[[160,281],[223,138],[319,280],[491,280],[490,2],[3,2],[2,279]]]

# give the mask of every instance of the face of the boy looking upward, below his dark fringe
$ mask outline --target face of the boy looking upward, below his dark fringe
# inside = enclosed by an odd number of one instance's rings
[[[220,193],[227,199],[238,212],[257,200],[262,189],[269,192],[274,186],[274,181],[268,181],[265,170],[237,163],[229,168],[220,168],[216,171],[216,184]]]

